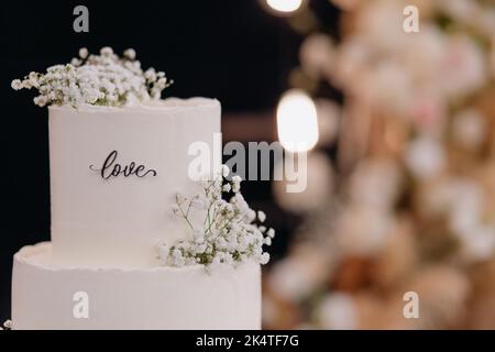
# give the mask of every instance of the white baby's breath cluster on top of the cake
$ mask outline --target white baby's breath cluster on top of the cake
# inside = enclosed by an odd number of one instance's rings
[[[162,90],[168,87],[163,72],[148,68],[143,72],[132,48],[119,57],[112,48],[103,47],[100,55],[90,55],[79,50],[79,57],[70,64],[55,65],[46,74],[30,73],[24,79],[14,79],[12,88],[37,89],[34,103],[69,105],[78,108],[84,103],[122,107],[138,101],[160,99]]]

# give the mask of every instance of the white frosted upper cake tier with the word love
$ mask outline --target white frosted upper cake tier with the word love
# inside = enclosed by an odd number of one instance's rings
[[[154,245],[184,238],[172,217],[177,191],[198,184],[187,169],[190,143],[220,132],[220,103],[206,98],[167,99],[127,108],[50,108],[52,241],[64,265],[140,267],[156,264]],[[103,179],[111,151],[116,163],[155,169],[156,176]],[[220,155],[212,161],[221,163]],[[109,170],[110,172],[110,170]],[[199,216],[198,216],[199,218]]]

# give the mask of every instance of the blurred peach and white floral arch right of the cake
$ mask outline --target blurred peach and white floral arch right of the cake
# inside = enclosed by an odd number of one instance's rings
[[[265,277],[264,324],[495,329],[495,2],[332,2],[340,38],[310,7],[287,19],[305,35],[289,82],[314,95],[320,140],[309,194],[274,186],[305,222]],[[410,290],[419,319],[403,316]]]

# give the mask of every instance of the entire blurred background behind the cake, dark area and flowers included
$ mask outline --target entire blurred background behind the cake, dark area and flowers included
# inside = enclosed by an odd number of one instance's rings
[[[80,3],[89,33],[72,30]],[[417,33],[403,29],[408,4],[419,10]],[[286,193],[284,180],[244,185],[277,230],[265,328],[495,329],[495,1],[54,1],[0,11],[0,320],[10,316],[12,255],[50,239],[47,113],[10,81],[81,46],[111,45],[164,69],[175,80],[166,96],[218,98],[224,142],[296,130],[308,145],[304,193]],[[403,315],[406,292],[419,295],[419,319]]]

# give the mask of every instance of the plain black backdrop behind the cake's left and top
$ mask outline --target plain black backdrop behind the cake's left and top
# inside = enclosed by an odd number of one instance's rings
[[[89,9],[89,33],[73,31],[77,4]],[[67,63],[81,46],[94,53],[107,45],[117,53],[133,47],[144,68],[165,70],[175,80],[165,96],[221,101],[226,141],[266,140],[275,136],[274,107],[288,88],[301,37],[255,0],[9,1],[0,11],[2,322],[10,318],[12,255],[50,239],[47,110],[34,106],[34,92],[12,90],[12,79]],[[334,14],[329,4],[326,11]],[[237,119],[246,113],[262,118],[243,132]],[[249,183],[245,193],[277,229],[273,254],[283,255],[297,219],[271,201],[267,182]]]

